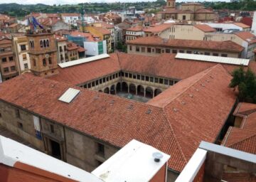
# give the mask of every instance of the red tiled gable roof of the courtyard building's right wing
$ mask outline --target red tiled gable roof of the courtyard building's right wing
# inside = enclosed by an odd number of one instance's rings
[[[228,87],[230,80],[223,66],[215,65],[147,102],[164,109],[186,159],[196,150],[199,138],[209,142],[217,139],[235,105],[235,94]]]

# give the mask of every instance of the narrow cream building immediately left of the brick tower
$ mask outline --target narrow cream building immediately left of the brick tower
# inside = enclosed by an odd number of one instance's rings
[[[12,38],[18,75],[28,72],[31,69],[31,61],[28,55],[28,39],[25,35]]]

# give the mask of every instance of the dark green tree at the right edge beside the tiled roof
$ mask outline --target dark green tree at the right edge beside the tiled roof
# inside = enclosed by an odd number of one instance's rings
[[[232,73],[233,79],[230,82],[230,87],[238,88],[238,99],[240,102],[256,103],[256,76],[252,70],[247,71],[240,67]]]

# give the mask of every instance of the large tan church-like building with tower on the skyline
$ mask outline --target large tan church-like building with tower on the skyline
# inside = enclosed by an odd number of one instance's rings
[[[157,18],[159,21],[169,18],[179,21],[213,21],[215,13],[196,2],[181,4],[181,9],[176,9],[175,1],[171,0],[166,2],[166,9],[160,11]]]

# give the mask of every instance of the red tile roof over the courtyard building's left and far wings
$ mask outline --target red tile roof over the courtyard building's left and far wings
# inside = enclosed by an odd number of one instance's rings
[[[61,82],[72,83],[73,85],[79,85],[123,70],[132,73],[181,80],[218,64],[196,60],[176,59],[175,55],[176,54],[165,53],[158,57],[154,57],[126,53],[112,53],[110,54],[110,58],[75,65],[69,68],[58,68],[59,74],[49,78]],[[238,65],[222,65],[228,73],[232,73],[235,68],[238,68]],[[250,62],[249,67],[256,72],[255,62]]]

